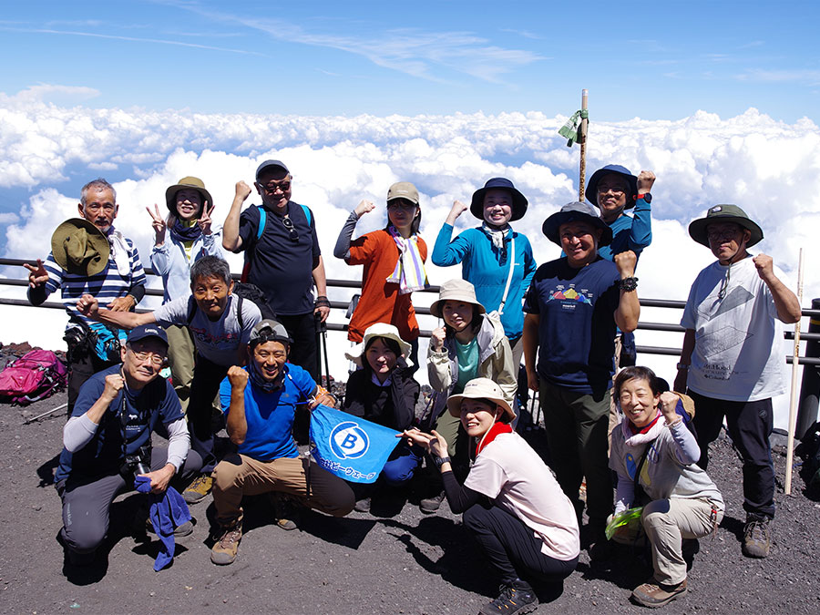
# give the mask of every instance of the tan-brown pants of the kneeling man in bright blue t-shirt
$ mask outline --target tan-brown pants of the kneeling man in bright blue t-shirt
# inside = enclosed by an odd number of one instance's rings
[[[305,471],[310,463],[311,494]],[[301,498],[312,508],[333,517],[353,510],[353,490],[341,478],[302,457],[259,461],[244,455],[226,456],[213,470],[213,504],[220,525],[230,526],[242,517],[242,496],[280,491]]]

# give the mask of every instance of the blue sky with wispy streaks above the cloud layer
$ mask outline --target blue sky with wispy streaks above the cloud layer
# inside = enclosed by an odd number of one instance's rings
[[[815,2],[28,2],[0,92],[93,108],[820,120]],[[14,58],[10,61],[9,58]]]

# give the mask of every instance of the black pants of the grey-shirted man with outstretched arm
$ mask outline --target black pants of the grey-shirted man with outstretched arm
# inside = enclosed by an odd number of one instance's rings
[[[202,458],[202,474],[210,474],[216,466],[211,409],[213,398],[219,393],[220,384],[227,374],[228,367],[211,363],[201,354],[197,354],[194,377],[190,384],[188,429],[190,448]]]

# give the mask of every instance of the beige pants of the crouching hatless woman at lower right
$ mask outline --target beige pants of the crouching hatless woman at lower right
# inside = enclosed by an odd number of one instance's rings
[[[682,539],[708,536],[721,519],[723,511],[705,499],[656,499],[643,507],[641,524],[652,545],[655,580],[677,585],[686,579]]]

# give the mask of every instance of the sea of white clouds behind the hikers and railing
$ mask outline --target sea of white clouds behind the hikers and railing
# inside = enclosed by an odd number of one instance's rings
[[[186,175],[204,179],[217,205],[214,217],[223,220],[235,183],[250,183],[262,159],[279,158],[292,169],[294,200],[310,205],[317,214],[331,278],[361,276],[358,269],[333,258],[333,244],[348,212],[359,200],[374,200],[378,209],[360,222],[358,231],[381,227],[386,190],[400,179],[415,182],[422,193],[422,234],[431,249],[453,200],[467,202],[490,177],[513,179],[530,202],[528,215],[515,226],[533,242],[538,262],[548,261],[559,249],[543,238],[541,223],[560,205],[575,200],[578,192],[579,149],[568,149],[557,134],[564,120],[535,112],[415,118],[202,115],[64,108],[3,97],[0,194],[3,187],[32,190],[19,211],[6,207],[0,214],[6,225],[6,256],[45,256],[57,221],[76,214],[86,176],[133,169],[130,179],[116,184],[121,205],[117,223],[137,241],[148,262],[151,229],[144,207],[155,202],[164,207],[167,186]],[[760,250],[773,255],[793,287],[798,249],[805,248],[807,263],[820,259],[815,240],[820,229],[820,129],[807,119],[785,124],[749,109],[726,119],[701,111],[674,121],[593,123],[588,152],[588,177],[610,162],[635,172],[652,169],[658,177],[652,190],[653,242],[641,257],[638,272],[642,297],[686,298],[696,273],[712,260],[708,250],[689,239],[686,227],[719,202],[737,203],[761,223],[766,238]],[[89,172],[75,186],[52,186],[67,176],[68,169],[76,175],[77,168]],[[250,201],[259,198],[254,193]],[[466,213],[456,230],[476,222]],[[229,261],[234,271],[241,269],[240,257],[231,255]],[[457,267],[443,270],[432,265],[428,271],[435,284],[460,273]],[[341,301],[350,294],[333,290],[331,298]],[[815,296],[820,296],[820,280],[807,274],[804,305]],[[415,295],[418,305],[429,305],[433,299]],[[3,313],[0,341],[19,341],[24,331],[21,318],[36,318],[37,327],[25,330],[34,332],[36,339],[61,344],[64,319],[41,320],[41,311],[20,308],[4,308]],[[646,309],[642,319],[676,323],[680,313]],[[343,323],[343,315],[334,314],[333,322]],[[422,321],[423,328],[435,324]],[[346,342],[340,333],[331,333],[330,339],[333,370],[342,373],[341,349]],[[641,331],[638,341],[679,346],[681,336]],[[646,361],[671,379],[672,359]]]

